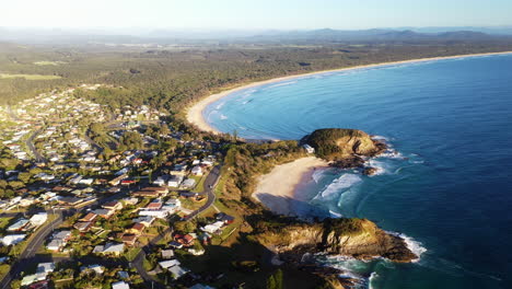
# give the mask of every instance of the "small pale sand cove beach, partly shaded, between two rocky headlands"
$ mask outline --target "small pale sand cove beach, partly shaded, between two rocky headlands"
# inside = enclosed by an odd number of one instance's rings
[[[277,165],[258,180],[253,197],[271,211],[295,215],[295,192],[301,183],[312,177],[315,169],[327,167],[328,163],[316,157],[305,157],[290,163]]]

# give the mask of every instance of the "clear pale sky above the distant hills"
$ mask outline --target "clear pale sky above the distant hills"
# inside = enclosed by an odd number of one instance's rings
[[[512,25],[512,0],[0,0],[0,26],[370,28]]]

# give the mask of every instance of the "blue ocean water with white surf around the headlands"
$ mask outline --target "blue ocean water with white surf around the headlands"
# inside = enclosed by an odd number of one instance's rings
[[[330,258],[369,288],[512,288],[512,55],[303,77],[231,94],[203,112],[246,138],[358,128],[397,153],[375,176],[315,175],[310,204],[416,241],[412,264]]]

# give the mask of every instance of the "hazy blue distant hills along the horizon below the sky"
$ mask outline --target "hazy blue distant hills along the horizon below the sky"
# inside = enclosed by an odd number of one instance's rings
[[[0,27],[0,42],[27,44],[179,44],[179,43],[350,43],[512,41],[512,27],[476,28],[373,28],[311,31],[176,31],[176,30],[50,30]]]

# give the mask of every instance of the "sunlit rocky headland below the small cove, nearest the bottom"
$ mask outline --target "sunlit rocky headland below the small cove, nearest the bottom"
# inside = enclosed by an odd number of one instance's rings
[[[327,253],[359,259],[385,257],[407,263],[416,256],[405,241],[379,229],[366,219],[325,219],[318,223],[294,223],[257,235],[261,244],[284,258],[305,253]]]

